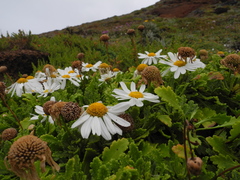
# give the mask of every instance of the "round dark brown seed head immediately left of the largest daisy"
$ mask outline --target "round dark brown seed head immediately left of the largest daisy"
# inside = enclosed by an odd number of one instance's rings
[[[61,109],[61,115],[67,122],[76,120],[80,117],[82,108],[79,107],[78,103],[68,102]]]

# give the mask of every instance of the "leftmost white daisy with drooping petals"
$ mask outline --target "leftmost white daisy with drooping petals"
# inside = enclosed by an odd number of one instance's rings
[[[33,93],[41,84],[33,76],[27,78],[19,78],[14,84],[8,87],[8,93],[13,96],[15,93],[21,97],[23,93]]]

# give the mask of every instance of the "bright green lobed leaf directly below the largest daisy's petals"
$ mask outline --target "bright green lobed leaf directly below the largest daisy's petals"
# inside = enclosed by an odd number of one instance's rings
[[[105,147],[102,153],[102,159],[104,162],[108,162],[111,159],[118,159],[121,154],[128,149],[129,141],[125,138],[113,141],[110,148]]]

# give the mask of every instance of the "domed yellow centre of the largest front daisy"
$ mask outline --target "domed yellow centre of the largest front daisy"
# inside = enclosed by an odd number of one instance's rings
[[[86,111],[91,116],[102,117],[108,112],[108,108],[104,104],[96,102],[90,104]]]

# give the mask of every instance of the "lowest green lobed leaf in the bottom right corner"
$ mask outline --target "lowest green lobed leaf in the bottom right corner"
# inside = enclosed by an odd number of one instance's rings
[[[228,155],[219,154],[216,156],[211,156],[213,164],[216,164],[219,169],[227,169],[233,166],[239,165],[238,162],[233,161],[233,159]]]

